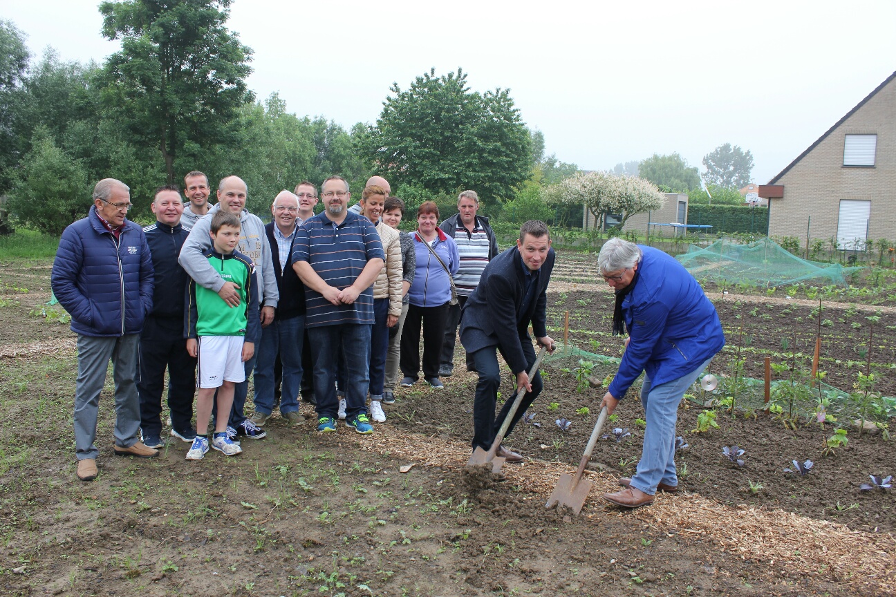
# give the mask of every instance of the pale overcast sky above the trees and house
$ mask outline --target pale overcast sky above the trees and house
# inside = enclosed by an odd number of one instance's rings
[[[35,55],[101,62],[94,0],[0,0]],[[896,2],[290,2],[236,0],[249,87],[290,112],[375,123],[392,82],[459,66],[510,88],[547,152],[583,169],[722,143],[766,183],[896,71]]]

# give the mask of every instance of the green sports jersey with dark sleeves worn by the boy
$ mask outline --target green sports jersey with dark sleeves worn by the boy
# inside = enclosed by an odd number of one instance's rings
[[[245,336],[246,342],[257,342],[261,335],[261,321],[252,260],[237,251],[222,255],[214,249],[203,256],[225,282],[239,286],[237,293],[240,303],[238,307],[230,307],[211,288],[190,280],[186,304],[187,337]]]

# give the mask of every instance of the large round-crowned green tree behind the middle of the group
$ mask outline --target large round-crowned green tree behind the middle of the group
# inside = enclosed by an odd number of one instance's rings
[[[401,90],[398,83],[363,143],[365,157],[393,188],[475,189],[489,201],[513,196],[533,164],[530,133],[508,90],[470,91],[458,69],[435,68]]]

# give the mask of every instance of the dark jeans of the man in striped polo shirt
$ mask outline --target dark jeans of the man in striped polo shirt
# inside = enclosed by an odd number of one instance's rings
[[[367,414],[367,386],[370,383],[370,325],[346,323],[308,329],[308,339],[314,346],[314,395],[318,417],[336,418],[339,399],[336,397],[336,378],[340,359],[346,363],[345,399],[346,418],[351,421],[358,414]]]

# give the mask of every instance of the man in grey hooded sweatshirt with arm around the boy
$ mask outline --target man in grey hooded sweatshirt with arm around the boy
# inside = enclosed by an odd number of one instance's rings
[[[186,237],[184,247],[180,251],[177,262],[196,284],[209,288],[219,294],[230,307],[239,305],[239,294],[233,282],[225,282],[224,278],[211,267],[204,253],[211,248],[211,218],[221,209],[239,217],[239,252],[251,258],[255,265],[256,283],[258,287],[258,303],[262,305],[262,327],[268,326],[274,319],[274,310],[280,300],[277,289],[277,278],[274,276],[271,260],[271,245],[268,244],[262,220],[246,209],[246,183],[238,176],[227,176],[218,183],[218,204],[209,209],[209,213],[196,222],[190,235]],[[249,439],[262,439],[267,435],[254,422],[246,419],[243,405],[249,388],[249,378],[254,370],[254,357],[246,361],[246,381],[237,384],[234,393],[233,407],[229,414],[228,433],[234,436],[245,436]],[[218,413],[216,412],[216,416]],[[231,438],[233,439],[233,438]]]

